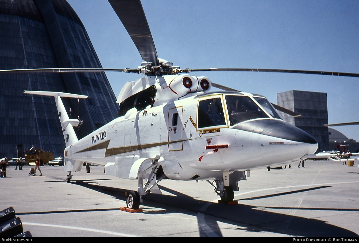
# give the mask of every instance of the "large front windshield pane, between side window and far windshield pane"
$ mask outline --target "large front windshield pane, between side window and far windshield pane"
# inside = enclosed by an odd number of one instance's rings
[[[268,118],[264,111],[248,96],[227,95],[225,100],[231,126],[246,120]]]

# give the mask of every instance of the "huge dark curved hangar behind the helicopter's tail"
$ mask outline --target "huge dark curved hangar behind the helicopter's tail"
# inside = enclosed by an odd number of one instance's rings
[[[65,0],[0,0],[0,69],[101,68],[80,19]],[[64,100],[83,125],[84,137],[117,116],[119,106],[105,73],[1,74],[0,158],[20,157],[38,146],[63,155],[65,143],[52,97],[24,90],[88,95]]]

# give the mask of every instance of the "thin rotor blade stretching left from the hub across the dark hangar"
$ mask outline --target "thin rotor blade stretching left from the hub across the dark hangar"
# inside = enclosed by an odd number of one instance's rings
[[[0,70],[1,73],[30,73],[30,72],[37,72],[37,73],[50,73],[50,72],[58,72],[58,73],[65,73],[65,72],[134,72],[138,73],[138,69],[119,69],[119,68],[31,68],[31,69],[9,69],[9,70]]]

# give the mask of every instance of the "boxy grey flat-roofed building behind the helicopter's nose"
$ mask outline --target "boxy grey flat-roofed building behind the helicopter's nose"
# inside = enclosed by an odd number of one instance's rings
[[[284,120],[311,134],[318,141],[318,151],[328,151],[329,137],[327,94],[291,90],[277,94],[277,104],[301,114],[299,117],[280,112]]]

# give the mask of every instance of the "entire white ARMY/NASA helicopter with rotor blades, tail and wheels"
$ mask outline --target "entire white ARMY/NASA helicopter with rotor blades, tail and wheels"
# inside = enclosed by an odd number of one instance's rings
[[[194,71],[258,71],[354,76],[355,73],[248,68],[180,69],[157,56],[140,0],[109,0],[134,41],[142,59],[136,69],[55,68],[0,72],[122,71],[144,76],[127,82],[117,103],[118,118],[78,140],[61,97],[86,95],[49,91],[25,94],[53,96],[63,128],[66,181],[84,162],[102,165],[107,175],[137,179],[138,190],[127,194],[127,208],[138,209],[147,193],[161,193],[163,179],[207,180],[223,202],[234,199],[238,181],[250,169],[299,161],[313,154],[317,141],[284,121],[262,95],[212,83]],[[134,24],[136,23],[136,24]],[[211,87],[223,89],[210,92]],[[211,182],[213,181],[213,182]]]

